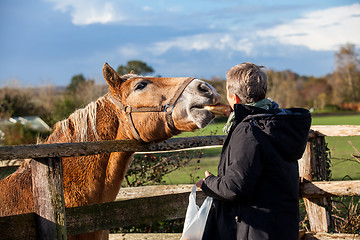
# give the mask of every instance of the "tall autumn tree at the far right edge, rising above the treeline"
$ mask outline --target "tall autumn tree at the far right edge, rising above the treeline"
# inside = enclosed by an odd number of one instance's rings
[[[335,103],[360,101],[360,58],[354,44],[341,46],[335,53],[333,74]]]

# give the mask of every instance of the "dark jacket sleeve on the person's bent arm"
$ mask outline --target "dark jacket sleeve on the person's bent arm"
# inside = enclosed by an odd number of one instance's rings
[[[263,170],[263,151],[255,139],[253,128],[237,127],[228,145],[228,164],[223,176],[211,175],[205,179],[203,192],[222,201],[251,198]]]

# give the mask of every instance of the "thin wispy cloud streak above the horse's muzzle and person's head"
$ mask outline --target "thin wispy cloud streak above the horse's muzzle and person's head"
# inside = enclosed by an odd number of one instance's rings
[[[231,34],[208,33],[157,42],[150,47],[153,54],[156,55],[161,55],[171,48],[179,48],[185,51],[229,49],[243,51],[249,54],[253,48],[253,44],[248,39],[238,38]]]

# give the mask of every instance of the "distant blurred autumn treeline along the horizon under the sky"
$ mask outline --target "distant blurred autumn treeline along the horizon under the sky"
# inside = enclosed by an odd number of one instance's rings
[[[304,59],[306,61],[306,59]],[[267,70],[268,97],[280,107],[305,107],[322,110],[350,106],[360,102],[360,59],[355,45],[342,46],[334,56],[335,70],[324,77],[300,76],[290,70]],[[153,69],[141,61],[129,61],[119,66],[119,74],[130,69],[147,74]],[[212,84],[226,102],[224,79],[205,79]],[[107,92],[107,86],[97,85],[82,74],[75,75],[66,88],[54,86],[38,88],[4,87],[0,89],[0,118],[11,116],[39,116],[50,126],[86,106]],[[356,105],[356,104],[355,104]]]

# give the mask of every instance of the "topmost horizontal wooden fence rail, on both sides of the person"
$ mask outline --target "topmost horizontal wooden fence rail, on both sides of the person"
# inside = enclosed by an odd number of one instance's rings
[[[313,125],[309,137],[325,136],[360,136],[360,125]],[[204,146],[222,146],[226,136],[198,136],[171,138],[160,143],[142,143],[136,140],[110,140],[99,142],[55,143],[38,145],[1,146],[0,166],[17,165],[17,161],[27,158],[74,157],[110,152],[161,152]],[[17,159],[13,160],[13,159]],[[12,161],[11,161],[12,160]],[[7,165],[7,163],[9,163]]]

